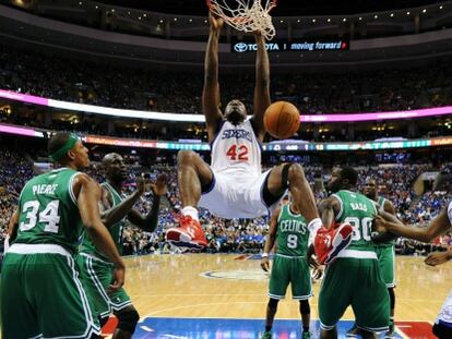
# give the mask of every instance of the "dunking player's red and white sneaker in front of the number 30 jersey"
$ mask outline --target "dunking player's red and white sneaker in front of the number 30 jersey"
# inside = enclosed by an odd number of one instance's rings
[[[320,264],[331,264],[352,242],[353,227],[348,222],[341,223],[330,230],[322,227],[314,239],[314,251]]]

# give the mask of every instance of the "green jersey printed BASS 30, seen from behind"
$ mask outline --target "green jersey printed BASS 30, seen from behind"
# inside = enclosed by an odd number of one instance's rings
[[[333,196],[341,203],[336,221],[348,222],[354,228],[347,250],[373,251],[371,232],[372,220],[377,215],[376,203],[362,194],[345,190],[338,191]]]

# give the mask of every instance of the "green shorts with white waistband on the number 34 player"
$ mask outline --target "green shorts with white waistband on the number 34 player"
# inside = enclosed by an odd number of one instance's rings
[[[97,316],[71,254],[55,244],[13,244],[0,286],[3,339],[90,338]]]

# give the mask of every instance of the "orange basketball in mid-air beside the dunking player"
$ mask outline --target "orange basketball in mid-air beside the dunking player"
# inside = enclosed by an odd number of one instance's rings
[[[273,137],[287,138],[298,131],[300,113],[290,102],[276,101],[265,110],[264,125]]]

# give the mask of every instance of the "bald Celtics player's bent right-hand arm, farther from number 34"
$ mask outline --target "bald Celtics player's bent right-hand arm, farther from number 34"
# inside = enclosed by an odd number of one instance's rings
[[[158,223],[158,209],[160,207],[160,197],[166,194],[167,191],[167,177],[166,174],[159,174],[157,181],[152,185],[152,192],[154,194],[154,201],[152,203],[151,211],[147,216],[143,217],[136,209],[132,209],[129,215],[129,221],[141,228],[143,231],[153,232]]]

